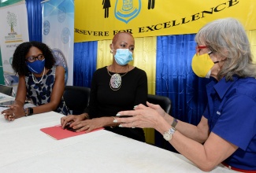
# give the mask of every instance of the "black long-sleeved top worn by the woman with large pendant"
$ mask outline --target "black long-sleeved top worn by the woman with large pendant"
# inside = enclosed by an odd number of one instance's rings
[[[127,74],[120,73],[121,88],[112,90],[109,86],[110,75],[107,68],[96,70],[91,81],[90,102],[87,112],[90,118],[102,116],[116,116],[117,112],[132,110],[135,105],[146,105],[147,101],[147,74],[139,68],[133,68]],[[125,75],[124,75],[125,74]],[[126,127],[106,127],[106,130],[145,142],[143,129]]]

